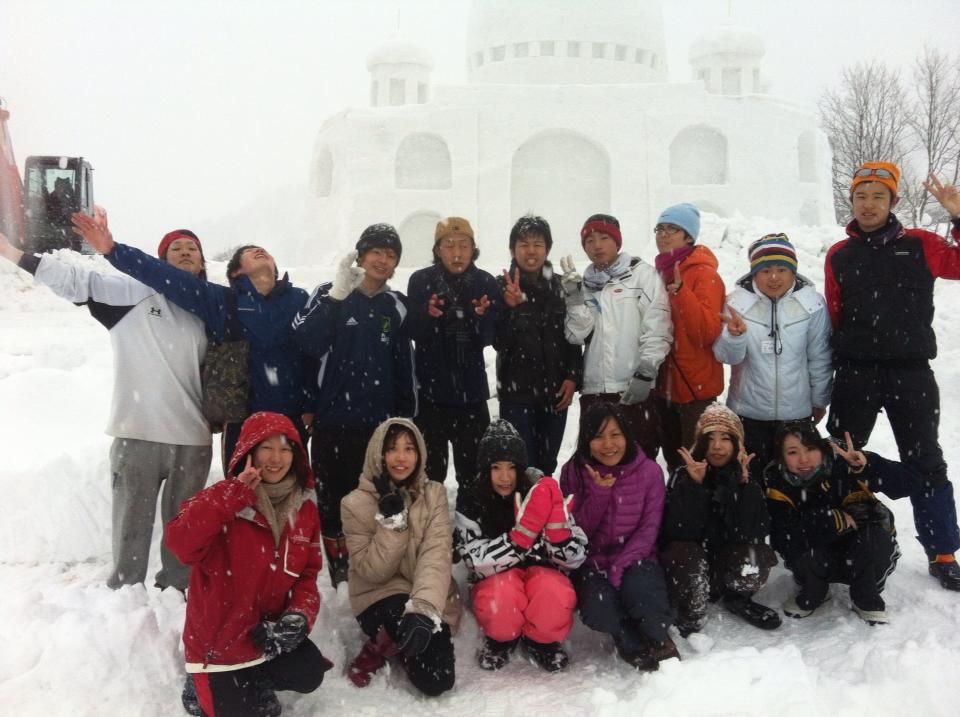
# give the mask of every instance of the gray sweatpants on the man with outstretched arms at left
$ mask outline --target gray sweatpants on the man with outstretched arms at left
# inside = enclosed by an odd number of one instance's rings
[[[108,587],[135,585],[146,579],[161,484],[160,519],[166,526],[179,512],[180,504],[206,484],[212,456],[210,446],[113,439],[113,573],[107,580]],[[177,560],[165,544],[160,558],[157,585],[185,590],[190,568]]]

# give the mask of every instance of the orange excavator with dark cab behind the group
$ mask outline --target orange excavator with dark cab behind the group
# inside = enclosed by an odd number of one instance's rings
[[[73,233],[70,215],[93,216],[93,167],[83,157],[27,157],[23,179],[0,98],[0,232],[24,251],[94,251]]]

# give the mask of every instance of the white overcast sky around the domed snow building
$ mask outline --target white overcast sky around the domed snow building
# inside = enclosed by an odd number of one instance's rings
[[[589,2],[589,0],[584,0]],[[517,0],[523,2],[523,0]],[[840,68],[956,52],[958,0],[663,0],[670,78],[723,20],[766,43],[771,94],[811,105]],[[465,79],[467,0],[0,0],[0,96],[17,160],[88,157],[119,239],[154,248],[307,183],[324,118],[366,106],[371,49],[396,32]],[[237,238],[268,243],[270,237]]]

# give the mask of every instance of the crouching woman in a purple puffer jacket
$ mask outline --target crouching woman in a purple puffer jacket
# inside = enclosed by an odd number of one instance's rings
[[[560,489],[589,538],[574,574],[583,623],[613,636],[617,654],[639,670],[678,657],[667,634],[673,613],[657,533],[663,517],[663,471],[639,450],[622,409],[595,404],[580,419],[577,452],[563,467]]]

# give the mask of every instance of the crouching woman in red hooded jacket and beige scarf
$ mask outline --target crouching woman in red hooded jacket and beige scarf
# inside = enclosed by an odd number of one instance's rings
[[[167,547],[192,567],[183,628],[191,714],[279,715],[275,690],[312,692],[332,666],[307,639],[320,609],[313,482],[290,419],[255,413],[227,478],[167,525]]]

